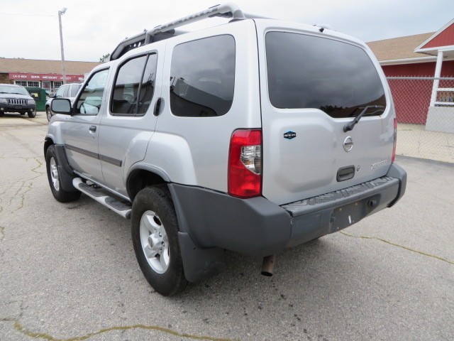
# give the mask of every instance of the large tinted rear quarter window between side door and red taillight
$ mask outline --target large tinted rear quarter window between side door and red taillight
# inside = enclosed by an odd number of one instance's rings
[[[170,70],[175,116],[215,117],[230,110],[235,88],[235,39],[216,36],[177,45]]]

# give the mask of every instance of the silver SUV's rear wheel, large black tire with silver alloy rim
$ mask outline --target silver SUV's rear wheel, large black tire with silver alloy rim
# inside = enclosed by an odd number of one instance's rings
[[[150,286],[163,296],[184,290],[178,221],[167,188],[153,186],[135,196],[131,214],[135,257]]]

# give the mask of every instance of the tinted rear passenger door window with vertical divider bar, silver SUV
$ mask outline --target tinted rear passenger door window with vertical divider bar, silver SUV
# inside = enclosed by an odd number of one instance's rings
[[[111,100],[111,113],[145,114],[155,90],[157,55],[142,55],[121,65]]]

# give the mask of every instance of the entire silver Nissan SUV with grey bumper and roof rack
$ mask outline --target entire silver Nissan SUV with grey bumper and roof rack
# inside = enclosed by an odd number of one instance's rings
[[[209,16],[225,25],[179,34]],[[214,6],[121,42],[74,100],[53,99],[44,153],[60,202],[81,193],[131,219],[162,295],[392,207],[396,116],[367,46],[319,26]]]

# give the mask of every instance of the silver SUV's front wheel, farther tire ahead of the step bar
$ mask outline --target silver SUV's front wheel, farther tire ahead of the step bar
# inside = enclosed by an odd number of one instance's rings
[[[57,154],[55,153],[55,146],[52,144],[45,153],[45,168],[48,172],[48,180],[52,195],[60,202],[70,202],[79,199],[81,195],[79,190],[75,192],[63,190],[57,166]]]

